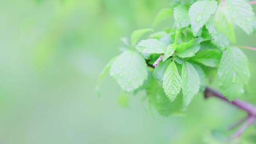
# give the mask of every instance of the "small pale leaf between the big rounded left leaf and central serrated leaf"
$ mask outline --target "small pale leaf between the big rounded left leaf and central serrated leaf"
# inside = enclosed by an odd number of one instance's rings
[[[163,81],[164,75],[165,75],[165,70],[167,66],[169,65],[170,60],[165,61],[165,62],[160,62],[158,66],[154,69],[153,76],[155,79],[159,81]]]

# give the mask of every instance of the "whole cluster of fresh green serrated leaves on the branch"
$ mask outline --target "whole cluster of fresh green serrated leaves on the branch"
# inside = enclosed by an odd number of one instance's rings
[[[234,46],[234,30],[253,33],[256,17],[248,2],[175,0],[158,13],[154,26],[170,17],[172,28],[134,31],[130,44],[124,41],[125,51],[101,72],[98,86],[110,72],[123,91],[146,90],[149,103],[169,116],[187,107],[204,90],[209,72],[218,70],[221,92],[230,100],[241,97],[250,72],[247,56]],[[138,42],[146,33],[152,34]]]

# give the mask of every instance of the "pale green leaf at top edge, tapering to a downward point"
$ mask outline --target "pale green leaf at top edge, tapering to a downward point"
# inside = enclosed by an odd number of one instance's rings
[[[210,16],[215,12],[217,5],[218,3],[215,0],[200,0],[190,7],[189,17],[194,35],[206,24]]]

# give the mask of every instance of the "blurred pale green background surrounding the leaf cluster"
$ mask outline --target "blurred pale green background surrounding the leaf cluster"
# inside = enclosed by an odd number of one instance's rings
[[[204,144],[210,130],[245,116],[201,94],[180,117],[153,117],[144,93],[121,108],[110,77],[96,96],[97,76],[119,54],[120,38],[151,27],[169,4],[0,0],[0,144]],[[256,47],[256,34],[237,34],[238,45]],[[245,52],[252,73],[245,99],[256,104],[256,52]]]

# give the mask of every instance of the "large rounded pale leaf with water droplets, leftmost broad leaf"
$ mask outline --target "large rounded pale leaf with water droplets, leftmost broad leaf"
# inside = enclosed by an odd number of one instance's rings
[[[110,75],[122,90],[133,91],[147,78],[146,62],[143,56],[134,51],[125,51],[112,63]]]

